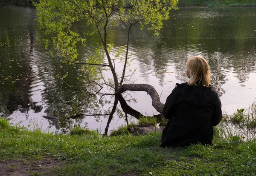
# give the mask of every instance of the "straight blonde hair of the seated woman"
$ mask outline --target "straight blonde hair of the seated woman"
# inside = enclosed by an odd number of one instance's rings
[[[188,85],[210,85],[209,65],[203,57],[190,57],[187,60],[187,67],[190,73]]]

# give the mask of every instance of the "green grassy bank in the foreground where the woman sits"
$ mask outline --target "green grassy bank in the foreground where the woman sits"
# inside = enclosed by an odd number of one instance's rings
[[[255,175],[255,135],[249,140],[239,136],[240,133],[223,135],[227,122],[245,125],[246,112],[249,111],[239,110],[225,116],[221,125],[215,128],[213,145],[196,144],[186,148],[160,148],[159,132],[102,138],[95,131],[80,128],[73,129],[73,135],[53,135],[39,130],[27,131],[0,119],[0,173],[34,176]]]

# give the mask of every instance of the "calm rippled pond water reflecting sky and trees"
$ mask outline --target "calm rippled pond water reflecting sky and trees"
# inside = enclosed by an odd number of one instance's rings
[[[175,83],[188,80],[188,57],[201,55],[209,63],[211,84],[221,96],[223,110],[230,114],[238,107],[247,108],[256,98],[255,9],[180,9],[170,16],[158,37],[140,31],[139,26],[132,29],[131,68],[137,68],[133,80],[153,85],[164,103]],[[76,66],[50,57],[44,49],[44,34],[35,17],[35,9],[0,8],[0,114],[14,124],[28,126],[34,122],[44,130],[59,131],[67,125],[64,119],[50,121],[42,116],[88,113],[90,107],[84,92],[68,88],[58,79],[58,74],[68,72],[69,84],[82,85],[76,79],[81,74]],[[126,43],[126,29],[119,26],[108,30],[113,56]],[[79,48],[80,59],[99,46],[99,38],[90,36],[87,47]],[[122,71],[119,66],[117,62],[116,69]],[[133,97],[137,103],[130,103],[131,107],[143,114],[156,113],[146,93]],[[87,116],[75,122],[103,131],[107,119]],[[115,114],[110,130],[123,123],[124,119]]]

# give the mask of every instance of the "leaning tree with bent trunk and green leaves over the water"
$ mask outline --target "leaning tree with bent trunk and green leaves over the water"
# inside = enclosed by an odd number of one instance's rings
[[[108,123],[105,135],[108,133],[109,124],[116,112],[118,102],[121,105],[127,120],[127,114],[139,119],[140,112],[131,108],[123,94],[126,91],[145,91],[152,99],[153,107],[161,113],[163,103],[153,86],[147,84],[134,84],[129,82],[127,67],[131,62],[128,57],[130,32],[134,25],[140,25],[141,30],[158,31],[162,28],[163,20],[169,18],[169,11],[177,9],[178,0],[40,0],[35,3],[40,28],[44,29],[48,39],[44,40],[46,47],[52,44],[55,53],[68,64],[82,65],[86,85],[83,90],[91,96],[113,96],[112,109],[99,114],[79,115],[108,115]],[[77,29],[83,23],[86,28]],[[112,41],[108,40],[109,26],[122,25],[127,28],[126,45],[117,52],[111,54]],[[80,25],[81,26],[81,25]],[[87,56],[84,60],[78,60],[77,45],[86,47],[86,37],[97,33],[102,43],[102,48]],[[52,39],[52,42],[49,42]],[[53,52],[52,52],[53,55]],[[122,62],[121,73],[115,69],[115,60]],[[110,71],[112,79],[105,79],[104,71]],[[63,77],[64,80],[64,77]],[[70,85],[72,86],[72,85]],[[110,93],[101,93],[107,86]],[[96,88],[97,87],[97,88]],[[158,115],[157,117],[160,117]]]

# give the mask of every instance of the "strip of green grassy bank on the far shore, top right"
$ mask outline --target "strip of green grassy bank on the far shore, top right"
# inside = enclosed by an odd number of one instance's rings
[[[179,7],[256,7],[255,0],[179,0]]]

